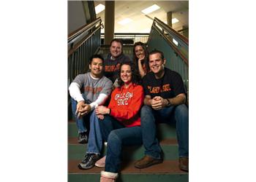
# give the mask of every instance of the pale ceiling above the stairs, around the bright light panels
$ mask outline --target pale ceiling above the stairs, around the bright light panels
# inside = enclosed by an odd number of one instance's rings
[[[105,1],[94,1],[95,7],[98,4],[105,5]],[[173,24],[176,31],[189,27],[189,1],[115,1],[115,33],[149,33],[153,20],[146,17],[141,10],[153,4],[157,4],[160,9],[149,13],[149,17],[157,17],[167,23],[167,12],[173,12],[173,18],[179,20]],[[99,12],[97,17],[101,17],[105,24],[105,10]],[[118,22],[126,17],[132,19],[132,22],[120,25]]]

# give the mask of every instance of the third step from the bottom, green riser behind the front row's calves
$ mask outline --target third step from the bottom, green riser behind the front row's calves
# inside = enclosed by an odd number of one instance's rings
[[[72,120],[68,122],[68,135],[71,138],[78,137],[78,128]],[[176,128],[173,125],[166,123],[157,124],[157,135],[159,140],[165,138],[176,138]]]

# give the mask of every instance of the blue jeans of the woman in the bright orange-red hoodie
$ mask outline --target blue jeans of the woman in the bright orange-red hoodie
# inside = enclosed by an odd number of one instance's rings
[[[102,138],[108,141],[105,171],[118,173],[121,165],[122,146],[133,146],[142,144],[141,127],[125,127],[112,116],[105,115],[99,119]]]

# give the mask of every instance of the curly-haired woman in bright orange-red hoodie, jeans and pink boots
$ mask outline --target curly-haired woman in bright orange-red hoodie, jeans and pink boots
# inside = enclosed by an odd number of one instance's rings
[[[118,85],[111,94],[108,107],[98,106],[97,115],[104,141],[108,141],[105,171],[100,181],[116,181],[121,164],[121,147],[142,143],[140,129],[140,108],[143,105],[143,87],[139,85],[140,76],[135,73],[132,63],[121,63]]]

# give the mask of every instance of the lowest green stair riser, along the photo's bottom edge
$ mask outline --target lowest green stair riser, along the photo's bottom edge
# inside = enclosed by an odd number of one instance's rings
[[[99,181],[100,175],[99,174],[75,174],[69,173],[68,175],[68,182],[97,182]],[[188,174],[121,174],[116,182],[187,182],[189,181]]]

